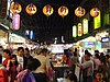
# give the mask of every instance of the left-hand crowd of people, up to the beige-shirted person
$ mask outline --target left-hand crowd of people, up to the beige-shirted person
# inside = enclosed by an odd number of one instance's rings
[[[18,47],[15,55],[9,49],[2,49],[0,55],[0,82],[48,82],[50,60],[47,49],[41,55],[31,56],[29,48]]]

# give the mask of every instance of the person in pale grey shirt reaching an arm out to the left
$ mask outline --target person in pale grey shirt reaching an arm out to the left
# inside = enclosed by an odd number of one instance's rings
[[[84,63],[78,63],[77,66],[82,69],[82,77],[84,81],[82,82],[92,82],[92,75],[94,75],[94,61],[90,60],[91,54],[87,52],[85,55],[85,62]]]

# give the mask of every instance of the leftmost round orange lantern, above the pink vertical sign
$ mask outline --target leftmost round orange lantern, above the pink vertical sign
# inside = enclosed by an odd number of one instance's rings
[[[10,10],[12,13],[20,13],[22,11],[22,7],[21,4],[19,4],[18,2],[11,4]]]

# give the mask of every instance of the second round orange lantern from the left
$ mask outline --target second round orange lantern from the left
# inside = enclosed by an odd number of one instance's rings
[[[37,9],[33,3],[30,3],[29,5],[26,5],[25,11],[28,14],[33,15],[36,13]]]

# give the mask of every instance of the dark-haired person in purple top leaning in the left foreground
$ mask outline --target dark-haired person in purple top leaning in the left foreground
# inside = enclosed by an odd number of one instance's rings
[[[15,82],[36,82],[34,79],[34,75],[32,74],[32,71],[37,69],[41,66],[41,62],[37,59],[31,59],[28,62],[26,69],[21,71],[16,75]]]

